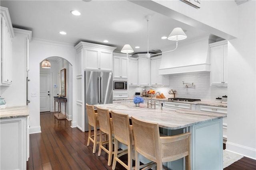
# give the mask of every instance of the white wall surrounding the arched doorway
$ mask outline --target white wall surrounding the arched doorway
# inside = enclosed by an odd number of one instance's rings
[[[76,51],[74,49],[74,45],[56,43],[52,41],[43,41],[38,39],[32,39],[29,48],[29,65],[30,71],[28,74],[28,78],[30,82],[28,84],[28,94],[31,92],[36,92],[38,94],[36,97],[31,98],[29,96],[28,100],[30,100],[29,113],[30,113],[30,133],[39,133],[41,131],[40,128],[40,62],[42,62],[47,57],[62,57],[70,62],[72,67],[76,67]],[[65,65],[63,65],[65,66]],[[70,75],[70,74],[69,74]],[[74,79],[75,75],[72,71],[72,79]],[[69,80],[70,82],[70,80]],[[71,81],[74,82],[74,81]],[[70,88],[70,87],[69,87]],[[72,86],[72,91],[74,91]],[[75,93],[72,93],[75,95]],[[71,96],[72,96],[71,95]],[[74,98],[74,97],[73,97]],[[70,102],[71,106],[68,106],[69,109],[73,109],[73,102]],[[70,110],[69,110],[70,111]],[[72,111],[74,113],[75,111]]]

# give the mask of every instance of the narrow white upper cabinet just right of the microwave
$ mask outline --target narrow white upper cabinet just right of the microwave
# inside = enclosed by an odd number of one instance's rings
[[[128,61],[128,85],[138,86],[138,60],[133,59]]]

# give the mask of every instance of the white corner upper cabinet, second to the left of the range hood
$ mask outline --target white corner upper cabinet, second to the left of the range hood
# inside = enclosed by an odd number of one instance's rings
[[[143,54],[144,55],[144,54]],[[149,86],[150,84],[150,59],[142,57],[138,61],[138,82],[139,86]]]

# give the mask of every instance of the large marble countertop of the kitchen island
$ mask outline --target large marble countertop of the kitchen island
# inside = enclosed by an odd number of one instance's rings
[[[181,129],[204,122],[214,121],[227,115],[195,111],[190,109],[160,110],[146,107],[136,107],[132,103],[115,103],[94,105],[110,111],[128,114],[144,121],[155,122],[165,129]]]

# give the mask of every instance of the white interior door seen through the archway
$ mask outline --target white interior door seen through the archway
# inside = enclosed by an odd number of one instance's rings
[[[50,111],[50,74],[40,73],[40,112]]]

